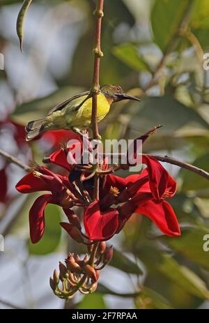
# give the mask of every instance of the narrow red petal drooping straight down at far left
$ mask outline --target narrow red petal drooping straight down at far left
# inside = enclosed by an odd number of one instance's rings
[[[38,242],[45,230],[45,207],[54,203],[52,194],[45,194],[33,203],[29,212],[30,235],[32,243]]]

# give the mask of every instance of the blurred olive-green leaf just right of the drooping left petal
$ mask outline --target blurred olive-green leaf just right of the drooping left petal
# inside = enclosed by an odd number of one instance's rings
[[[59,206],[49,204],[45,209],[45,232],[42,239],[33,244],[29,241],[30,255],[47,255],[56,250],[61,240],[61,209]]]

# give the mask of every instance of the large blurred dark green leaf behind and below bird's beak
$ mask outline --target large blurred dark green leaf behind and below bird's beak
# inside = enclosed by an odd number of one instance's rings
[[[206,128],[209,129],[208,122],[196,110],[183,105],[173,96],[167,94],[160,97],[144,98],[139,105],[133,103],[126,107],[125,113],[130,113],[132,119],[130,128],[146,132],[157,124],[162,124],[162,129],[158,131],[161,135],[171,135],[183,127]],[[136,133],[134,133],[136,135]]]

